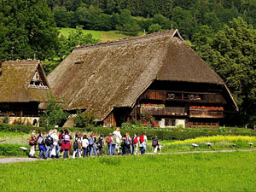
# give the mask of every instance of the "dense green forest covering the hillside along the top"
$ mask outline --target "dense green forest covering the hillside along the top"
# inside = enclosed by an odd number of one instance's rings
[[[55,13],[57,26],[85,29],[115,30],[115,14],[128,9],[132,16],[143,16],[144,20],[132,20],[119,26],[129,31],[140,26],[148,32],[149,26],[159,24],[162,29],[178,28],[183,38],[191,40],[202,25],[212,26],[218,32],[224,24],[241,16],[248,24],[256,27],[256,0],[47,0]],[[55,9],[55,8],[65,9]],[[95,12],[96,11],[96,12]],[[60,16],[62,15],[62,16]],[[165,23],[153,22],[155,15],[162,15]],[[151,18],[151,19],[150,19]],[[155,25],[154,25],[155,26]],[[155,28],[154,26],[151,27]],[[120,29],[120,27],[118,28]],[[153,30],[155,31],[155,30]],[[152,30],[150,32],[153,32]]]

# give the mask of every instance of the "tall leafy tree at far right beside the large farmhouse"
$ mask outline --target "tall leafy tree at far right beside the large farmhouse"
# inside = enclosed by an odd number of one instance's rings
[[[224,26],[199,55],[224,77],[240,108],[237,121],[255,125],[256,115],[256,30],[239,17]],[[197,41],[198,42],[198,41]]]

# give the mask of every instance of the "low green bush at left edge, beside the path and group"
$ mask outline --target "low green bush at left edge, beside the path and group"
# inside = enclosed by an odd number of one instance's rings
[[[0,156],[27,156],[29,151],[24,152],[18,144],[0,144]],[[28,145],[24,146],[29,148]]]

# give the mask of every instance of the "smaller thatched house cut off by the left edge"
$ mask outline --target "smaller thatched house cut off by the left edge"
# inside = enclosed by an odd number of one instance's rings
[[[50,93],[40,61],[5,61],[1,70],[0,118],[9,115],[9,123],[19,119],[38,125],[38,105],[47,102]]]

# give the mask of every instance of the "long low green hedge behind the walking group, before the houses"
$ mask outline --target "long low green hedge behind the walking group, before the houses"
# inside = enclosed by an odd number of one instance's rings
[[[29,133],[32,129],[41,130],[41,131],[49,131],[52,128],[45,127],[32,127],[27,125],[7,125],[0,124],[0,131],[16,131],[16,132],[26,132]],[[57,128],[57,130],[61,130],[65,128]],[[67,128],[69,131],[86,131],[86,132],[96,132],[98,134],[103,134],[104,136],[108,136],[109,133],[113,132],[115,128],[109,127],[87,127],[87,128],[78,128],[72,127]],[[125,132],[129,132],[131,136],[135,133],[141,135],[144,130],[121,130],[121,134],[124,135]],[[246,132],[246,131],[236,131],[236,132],[216,132],[216,131],[160,131],[160,130],[147,130],[148,139],[153,138],[155,135],[159,137],[159,139],[163,140],[184,140],[188,138],[195,137],[209,137],[209,136],[217,136],[217,135],[231,135],[231,136],[256,136],[256,131],[254,132]]]

